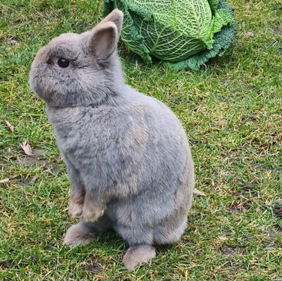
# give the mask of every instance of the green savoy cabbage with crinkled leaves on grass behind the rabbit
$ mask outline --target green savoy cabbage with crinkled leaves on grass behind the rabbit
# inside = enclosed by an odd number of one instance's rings
[[[104,15],[114,8],[124,13],[121,39],[146,63],[154,56],[177,69],[197,69],[233,40],[226,0],[104,0]]]

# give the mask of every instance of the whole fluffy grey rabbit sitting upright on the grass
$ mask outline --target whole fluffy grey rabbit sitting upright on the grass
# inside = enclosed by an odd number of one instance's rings
[[[63,243],[88,244],[113,227],[130,246],[123,262],[132,270],[156,256],[154,245],[183,235],[194,167],[171,110],[125,85],[122,24],[116,9],[90,31],[52,39],[32,62],[30,85],[46,101],[71,180],[69,214],[80,217]]]

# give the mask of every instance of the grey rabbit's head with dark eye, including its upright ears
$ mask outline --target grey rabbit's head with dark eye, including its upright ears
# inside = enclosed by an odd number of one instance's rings
[[[123,85],[116,46],[123,13],[112,11],[91,31],[62,34],[39,49],[30,70],[32,90],[51,106],[87,106]]]

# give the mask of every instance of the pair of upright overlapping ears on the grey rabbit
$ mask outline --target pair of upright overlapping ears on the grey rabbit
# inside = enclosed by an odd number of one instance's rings
[[[98,63],[105,63],[109,56],[114,53],[121,34],[122,24],[123,13],[116,9],[90,32],[87,46]]]

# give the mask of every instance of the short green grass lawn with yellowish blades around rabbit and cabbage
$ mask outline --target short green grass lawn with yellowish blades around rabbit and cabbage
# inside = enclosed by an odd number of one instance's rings
[[[52,37],[98,23],[101,2],[0,2],[0,180],[10,179],[0,183],[0,280],[282,280],[279,0],[228,1],[238,24],[234,44],[198,72],[149,68],[119,45],[128,84],[182,121],[196,188],[207,196],[195,196],[180,242],[158,247],[157,258],[134,272],[122,264],[128,246],[115,232],[62,246],[74,223],[68,177],[28,73]],[[24,139],[34,156],[24,156]]]

